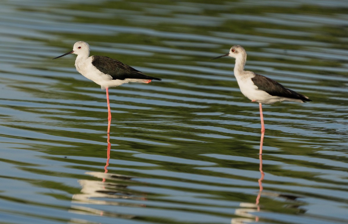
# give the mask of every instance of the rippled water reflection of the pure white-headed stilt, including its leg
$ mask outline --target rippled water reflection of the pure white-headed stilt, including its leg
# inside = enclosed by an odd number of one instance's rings
[[[107,206],[127,206],[127,207],[145,207],[144,204],[137,201],[146,200],[144,194],[129,190],[129,185],[134,185],[134,177],[111,174],[108,173],[108,166],[110,160],[110,135],[108,133],[107,138],[107,152],[106,152],[106,164],[104,166],[104,172],[86,172],[90,176],[99,178],[100,180],[78,180],[81,185],[81,192],[72,196],[71,209],[72,213],[86,214],[86,215],[99,215],[108,217],[121,217],[121,218],[134,218],[134,215],[117,214],[110,211],[103,211],[93,208],[93,205],[107,205]],[[125,201],[132,200],[132,201]],[[76,204],[83,204],[76,205]]]

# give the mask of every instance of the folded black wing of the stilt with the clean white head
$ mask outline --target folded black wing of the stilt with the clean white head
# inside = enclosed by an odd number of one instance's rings
[[[93,56],[92,64],[104,74],[109,74],[112,79],[155,79],[159,78],[144,75],[142,72],[123,64],[115,59],[105,56]]]

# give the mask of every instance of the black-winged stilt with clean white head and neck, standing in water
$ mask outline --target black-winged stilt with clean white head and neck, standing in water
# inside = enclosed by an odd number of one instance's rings
[[[102,89],[106,89],[106,101],[108,103],[108,133],[110,133],[111,112],[109,103],[109,87],[116,87],[128,82],[149,83],[153,79],[161,79],[144,75],[142,72],[109,57],[89,56],[89,51],[88,43],[78,41],[74,44],[72,51],[53,59],[68,54],[76,54],[76,70],[87,79],[100,85]]]

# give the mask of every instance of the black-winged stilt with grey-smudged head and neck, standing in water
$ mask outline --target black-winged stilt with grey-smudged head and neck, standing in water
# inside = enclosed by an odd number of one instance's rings
[[[274,81],[273,79],[256,74],[251,71],[244,71],[244,66],[246,62],[246,51],[242,46],[235,45],[231,47],[229,53],[212,59],[224,56],[236,58],[234,74],[237,79],[240,91],[243,93],[244,96],[251,99],[251,102],[259,103],[262,133],[260,143],[260,154],[262,154],[262,141],[264,135],[262,103],[272,104],[275,102],[282,101],[293,101],[303,103],[311,100],[307,96],[296,93],[291,89],[285,88],[283,85]]]

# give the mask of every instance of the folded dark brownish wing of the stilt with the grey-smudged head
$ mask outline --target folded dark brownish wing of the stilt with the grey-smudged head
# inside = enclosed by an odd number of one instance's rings
[[[260,89],[267,92],[271,96],[280,96],[292,99],[300,99],[303,102],[311,101],[307,96],[296,93],[294,90],[285,88],[282,84],[266,76],[255,74],[251,78],[254,84]]]

